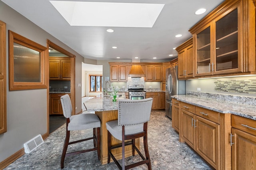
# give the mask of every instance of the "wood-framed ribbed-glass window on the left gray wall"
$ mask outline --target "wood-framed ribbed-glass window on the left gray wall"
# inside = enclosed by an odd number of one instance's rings
[[[47,88],[44,77],[46,49],[9,31],[10,90]]]

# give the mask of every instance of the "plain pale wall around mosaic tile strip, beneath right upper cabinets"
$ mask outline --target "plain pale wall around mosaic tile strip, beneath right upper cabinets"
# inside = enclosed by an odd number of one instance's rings
[[[255,97],[255,94],[237,93],[237,92],[220,92],[214,90],[216,80],[248,80],[256,79],[256,76],[236,76],[236,77],[224,77],[224,78],[206,78],[206,79],[194,79],[186,80],[186,91],[198,92],[197,88],[200,88],[200,92],[227,94],[234,96],[247,96]]]

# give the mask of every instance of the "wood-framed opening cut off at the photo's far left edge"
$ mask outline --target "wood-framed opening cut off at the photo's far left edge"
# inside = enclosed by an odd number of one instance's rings
[[[0,21],[0,134],[6,124],[6,23]]]

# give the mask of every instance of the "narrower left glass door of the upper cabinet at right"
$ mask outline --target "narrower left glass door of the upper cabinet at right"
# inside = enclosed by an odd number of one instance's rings
[[[211,61],[210,25],[196,35],[196,74],[210,74]]]

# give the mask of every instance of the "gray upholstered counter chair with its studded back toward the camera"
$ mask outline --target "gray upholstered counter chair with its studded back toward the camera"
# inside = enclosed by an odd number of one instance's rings
[[[106,123],[108,130],[108,163],[110,157],[114,160],[119,169],[129,169],[141,164],[147,164],[148,169],[151,169],[151,163],[148,153],[147,142],[147,125],[150,119],[150,112],[152,107],[152,98],[143,100],[120,100],[118,101],[118,120],[109,121]],[[111,146],[111,135],[122,141],[122,145]],[[144,150],[146,158],[140,153],[135,146],[135,139],[144,137]],[[132,139],[132,141],[126,142],[125,140]],[[134,149],[142,157],[142,161],[136,162],[125,166],[124,164],[124,146],[132,145],[132,154],[134,156]],[[111,149],[122,147],[122,166],[118,163],[116,158],[111,152]]]

